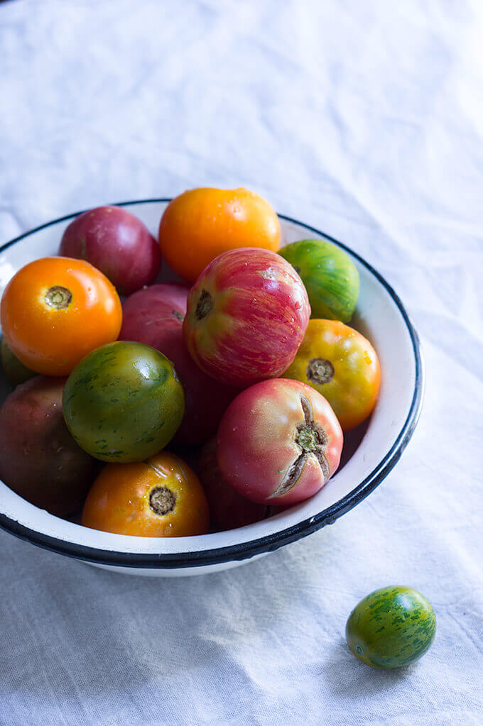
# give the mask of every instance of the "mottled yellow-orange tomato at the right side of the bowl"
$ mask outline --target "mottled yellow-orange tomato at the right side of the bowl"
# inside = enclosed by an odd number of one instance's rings
[[[295,360],[283,374],[307,383],[328,400],[344,431],[364,421],[381,385],[369,340],[336,320],[311,320]]]

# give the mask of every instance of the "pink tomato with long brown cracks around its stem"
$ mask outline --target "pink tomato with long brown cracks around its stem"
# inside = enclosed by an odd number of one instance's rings
[[[275,378],[246,388],[219,425],[216,457],[228,484],[253,502],[292,505],[327,483],[343,436],[320,393]]]

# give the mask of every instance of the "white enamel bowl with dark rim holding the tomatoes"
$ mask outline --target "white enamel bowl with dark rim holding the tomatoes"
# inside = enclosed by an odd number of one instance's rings
[[[155,233],[168,201],[144,200],[123,206]],[[44,224],[0,248],[0,293],[20,267],[57,253],[62,232],[74,216]],[[280,221],[285,244],[325,237],[296,220],[280,216]],[[130,574],[191,575],[234,567],[273,552],[332,524],[367,497],[397,463],[413,434],[421,410],[423,368],[418,336],[394,290],[367,262],[340,246],[352,256],[360,273],[360,300],[352,325],[378,351],[381,393],[368,425],[346,437],[344,465],[312,499],[240,529],[162,539],[87,529],[34,507],[0,482],[0,526],[39,547],[100,567]],[[169,277],[174,279],[172,274]],[[4,380],[0,386],[3,400],[8,390]]]

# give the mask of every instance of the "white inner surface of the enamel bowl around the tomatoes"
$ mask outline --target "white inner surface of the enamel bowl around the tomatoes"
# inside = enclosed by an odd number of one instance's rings
[[[129,203],[129,210],[139,216],[156,234],[166,201]],[[71,218],[54,221],[26,234],[17,242],[4,245],[0,250],[0,295],[5,285],[20,267],[36,258],[57,253],[62,232]],[[296,221],[280,218],[283,243],[304,238],[323,237],[314,229]],[[350,250],[349,254],[350,253]],[[120,534],[86,529],[76,523],[60,519],[39,510],[17,496],[0,482],[0,513],[46,537],[72,544],[139,554],[170,555],[213,550],[243,545],[253,540],[270,537],[293,528],[337,505],[376,469],[381,468],[394,442],[397,441],[414,409],[414,395],[418,378],[418,361],[410,328],[393,293],[369,266],[352,255],[360,273],[360,299],[350,325],[368,337],[378,351],[381,362],[381,393],[368,423],[346,437],[343,465],[328,484],[312,499],[292,507],[267,520],[240,529],[206,534],[203,537],[160,539],[154,537],[128,537]],[[162,274],[163,280],[176,280],[174,273]],[[0,380],[0,396],[9,392],[4,379]],[[348,507],[349,508],[349,507]]]

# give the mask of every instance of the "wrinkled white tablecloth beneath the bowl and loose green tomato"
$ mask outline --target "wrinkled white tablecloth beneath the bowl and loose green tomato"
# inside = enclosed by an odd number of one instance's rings
[[[483,723],[482,33],[478,1],[0,3],[0,242],[244,185],[373,263],[427,367],[386,481],[255,563],[135,578],[1,532],[2,726]],[[386,584],[437,613],[404,672],[344,643]]]

